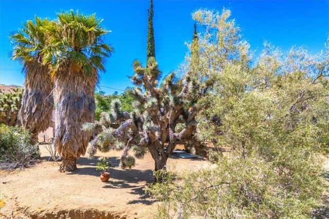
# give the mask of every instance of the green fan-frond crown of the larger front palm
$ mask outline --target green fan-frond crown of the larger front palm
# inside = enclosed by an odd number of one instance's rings
[[[100,25],[103,19],[74,10],[57,16],[57,22],[45,27],[49,39],[43,62],[50,64],[52,76],[63,68],[87,76],[93,76],[95,70],[105,72],[105,58],[111,56],[114,49],[104,42],[104,35],[111,31]]]

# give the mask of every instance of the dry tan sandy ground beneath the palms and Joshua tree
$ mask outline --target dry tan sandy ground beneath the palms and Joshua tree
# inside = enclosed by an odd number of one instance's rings
[[[156,203],[144,195],[145,186],[153,182],[154,162],[148,153],[137,160],[130,172],[111,169],[111,178],[102,183],[96,163],[102,156],[119,164],[121,152],[98,153],[94,160],[80,157],[79,170],[58,172],[57,163],[47,161],[49,154],[40,145],[42,162],[21,172],[1,172],[2,205],[0,218],[151,218]],[[168,168],[190,171],[208,165],[201,160],[171,156]],[[29,217],[27,217],[29,216]]]

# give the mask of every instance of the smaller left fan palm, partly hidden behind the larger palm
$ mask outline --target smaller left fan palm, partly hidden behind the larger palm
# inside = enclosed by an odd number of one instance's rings
[[[25,73],[24,93],[19,118],[22,126],[33,134],[38,141],[38,134],[50,124],[53,108],[52,90],[54,84],[49,74],[49,67],[43,64],[43,50],[46,45],[48,19],[35,17],[35,22],[27,21],[24,28],[10,37],[13,52],[11,58],[23,63]]]

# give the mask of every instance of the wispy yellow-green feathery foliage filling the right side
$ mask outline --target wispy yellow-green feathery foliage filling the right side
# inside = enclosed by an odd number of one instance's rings
[[[204,30],[198,70],[213,79],[197,137],[213,142],[214,164],[151,185],[163,201],[157,217],[312,218],[327,188],[319,155],[329,146],[329,50],[265,43],[252,58],[229,15],[193,14]]]

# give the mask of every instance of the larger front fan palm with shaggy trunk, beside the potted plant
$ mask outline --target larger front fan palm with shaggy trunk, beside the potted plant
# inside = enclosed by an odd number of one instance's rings
[[[76,161],[84,155],[90,135],[81,129],[95,116],[95,86],[105,57],[113,48],[103,41],[109,31],[100,26],[95,14],[61,12],[58,22],[47,29],[52,48],[46,49],[44,62],[51,63],[56,84],[56,134],[54,145],[63,157],[61,172],[77,170]]]

